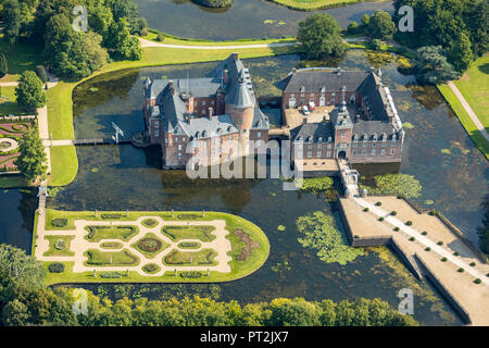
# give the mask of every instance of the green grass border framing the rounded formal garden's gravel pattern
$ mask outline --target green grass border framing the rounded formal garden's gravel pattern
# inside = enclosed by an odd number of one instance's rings
[[[83,272],[83,273],[74,273],[72,271],[73,262],[63,262],[65,264],[65,271],[63,273],[50,273],[48,272],[47,276],[47,285],[59,284],[59,283],[217,283],[217,282],[228,282],[237,278],[244,277],[250,273],[260,269],[263,263],[268,258],[269,253],[269,243],[266,235],[263,231],[253,224],[252,222],[244,220],[240,216],[221,213],[221,212],[205,212],[205,216],[202,217],[202,212],[175,212],[172,217],[171,212],[129,212],[129,215],[126,216],[126,212],[98,212],[98,216],[95,216],[95,212],[92,211],[79,211],[79,212],[71,212],[71,211],[57,211],[48,209],[46,211],[46,228],[47,229],[70,229],[74,228],[74,221],[76,219],[84,219],[89,221],[109,221],[102,219],[102,214],[105,213],[120,213],[121,219],[116,219],[113,221],[136,221],[140,216],[159,216],[165,221],[213,221],[213,220],[224,220],[226,221],[226,229],[229,231],[229,235],[226,238],[231,243],[231,251],[228,254],[233,258],[229,262],[231,268],[231,272],[229,273],[221,273],[211,271],[210,276],[204,274],[200,278],[184,278],[179,276],[175,277],[175,273],[166,272],[163,276],[143,276],[137,272],[129,272],[128,276],[125,272],[121,272],[123,276],[120,278],[101,278],[100,276],[93,277],[93,272]],[[52,220],[53,219],[67,219],[67,226],[65,227],[53,227]],[[253,249],[251,256],[249,256],[243,261],[238,261],[237,257],[241,254],[244,243],[240,240],[238,236],[236,236],[233,232],[237,228],[244,231],[253,241],[260,244],[260,247]],[[34,231],[34,240],[37,237],[37,224],[35,225]],[[34,241],[35,246],[36,243]],[[34,252],[33,252],[34,253]],[[43,262],[45,266],[48,268],[51,262]]]

